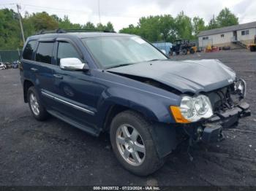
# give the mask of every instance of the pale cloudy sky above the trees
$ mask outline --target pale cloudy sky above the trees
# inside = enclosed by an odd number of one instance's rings
[[[20,4],[22,15],[26,11],[45,11],[59,17],[68,15],[72,23],[90,21],[97,24],[100,21],[105,24],[110,21],[116,31],[129,24],[137,25],[143,16],[170,14],[175,17],[181,11],[189,17],[203,17],[208,23],[225,7],[239,18],[239,23],[256,21],[256,1],[253,0],[0,0],[0,8],[16,10],[15,4]]]

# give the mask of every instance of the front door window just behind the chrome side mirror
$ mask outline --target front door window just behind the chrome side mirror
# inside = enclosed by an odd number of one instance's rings
[[[58,66],[61,61],[61,58],[78,58],[81,60],[80,55],[78,54],[78,51],[75,50],[75,47],[73,47],[72,44],[68,42],[59,42],[58,55],[57,55]]]

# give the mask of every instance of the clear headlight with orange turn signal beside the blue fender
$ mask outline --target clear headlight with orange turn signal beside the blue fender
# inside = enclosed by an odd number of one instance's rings
[[[206,95],[198,95],[195,98],[184,96],[181,105],[170,106],[176,122],[195,122],[201,118],[208,118],[213,115],[211,102]],[[180,112],[178,114],[178,112]]]

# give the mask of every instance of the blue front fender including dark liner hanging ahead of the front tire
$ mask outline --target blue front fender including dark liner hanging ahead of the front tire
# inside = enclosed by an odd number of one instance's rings
[[[176,148],[176,128],[172,125],[176,122],[169,106],[180,104],[179,95],[117,74],[105,71],[95,73],[95,82],[98,84],[96,95],[99,95],[96,117],[98,127],[104,128],[111,106],[126,106],[152,122],[150,131],[159,157],[165,157]]]

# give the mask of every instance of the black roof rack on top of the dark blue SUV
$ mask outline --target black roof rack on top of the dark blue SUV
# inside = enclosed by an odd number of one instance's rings
[[[116,33],[116,31],[108,31],[108,30],[99,30],[99,29],[94,29],[94,28],[71,28],[71,29],[62,29],[62,28],[58,28],[56,30],[51,30],[51,31],[45,31],[45,30],[41,30],[39,32],[36,33],[36,35],[39,34],[64,34],[64,33],[75,33],[75,32],[81,32],[81,31],[91,31],[91,32],[95,32],[95,31],[101,31],[103,33]]]

